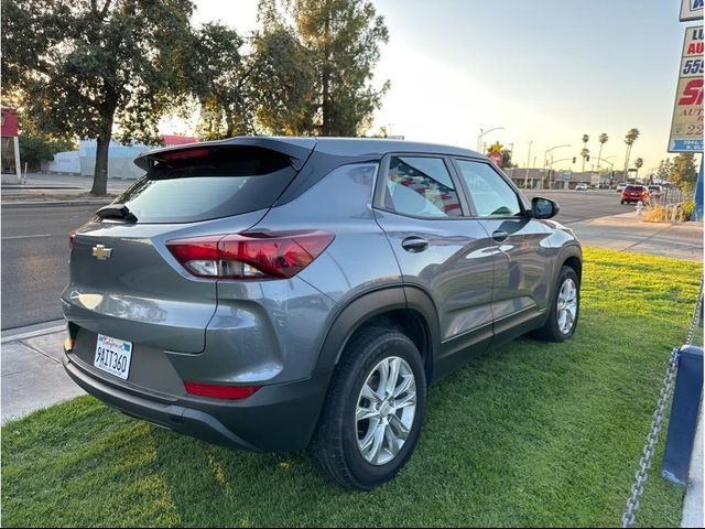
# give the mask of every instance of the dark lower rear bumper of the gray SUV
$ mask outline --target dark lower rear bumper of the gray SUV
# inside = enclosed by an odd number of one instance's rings
[[[307,446],[321,413],[330,373],[262,387],[248,399],[227,401],[159,397],[98,376],[66,352],[64,368],[85,391],[123,413],[217,444],[254,452],[290,452]],[[117,380],[117,379],[116,379]]]

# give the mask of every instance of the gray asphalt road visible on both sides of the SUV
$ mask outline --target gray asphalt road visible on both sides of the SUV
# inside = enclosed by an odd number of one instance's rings
[[[572,224],[626,213],[615,192],[529,192],[561,205],[557,220]],[[42,206],[2,208],[2,330],[62,317],[58,296],[68,277],[68,231],[98,208]]]

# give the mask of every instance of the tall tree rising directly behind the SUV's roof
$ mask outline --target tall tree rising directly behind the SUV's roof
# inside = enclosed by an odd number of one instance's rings
[[[389,82],[375,89],[370,82],[389,40],[382,17],[369,0],[260,0],[260,20],[292,31],[311,57],[314,89],[306,112],[306,132],[360,136],[371,123]]]

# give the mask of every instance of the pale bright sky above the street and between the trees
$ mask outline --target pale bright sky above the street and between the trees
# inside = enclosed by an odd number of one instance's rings
[[[641,136],[631,160],[657,168],[668,155],[684,30],[680,0],[373,0],[389,28],[375,86],[391,88],[376,112],[408,140],[476,149],[513,144],[513,161],[582,168],[582,137],[597,160],[601,132],[608,166],[622,169],[627,131]],[[219,20],[247,33],[257,0],[196,0],[196,21]],[[529,142],[531,153],[529,152]],[[572,164],[572,158],[577,163]],[[549,154],[550,158],[550,154]],[[534,162],[535,159],[535,162]]]

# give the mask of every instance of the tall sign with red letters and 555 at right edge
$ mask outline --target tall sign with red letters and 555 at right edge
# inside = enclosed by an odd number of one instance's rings
[[[703,151],[703,26],[685,29],[669,152]]]

